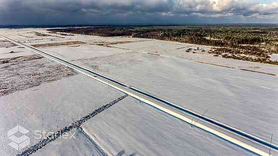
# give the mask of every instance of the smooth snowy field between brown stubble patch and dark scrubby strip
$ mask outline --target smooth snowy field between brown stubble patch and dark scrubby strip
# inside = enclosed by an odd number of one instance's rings
[[[76,75],[0,96],[0,133],[6,134],[20,125],[30,131],[26,135],[34,143],[35,130],[56,132],[122,95],[100,82]],[[8,146],[6,135],[0,135],[0,142],[1,156],[15,152]]]

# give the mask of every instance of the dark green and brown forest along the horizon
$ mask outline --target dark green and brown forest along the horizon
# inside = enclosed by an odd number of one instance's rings
[[[256,53],[278,53],[278,27],[152,26],[50,29],[53,32],[96,36],[131,36],[183,43],[228,47]]]

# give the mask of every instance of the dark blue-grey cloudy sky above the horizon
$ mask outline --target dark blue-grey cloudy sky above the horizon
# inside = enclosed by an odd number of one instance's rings
[[[278,0],[0,0],[0,25],[186,23],[278,23]]]

